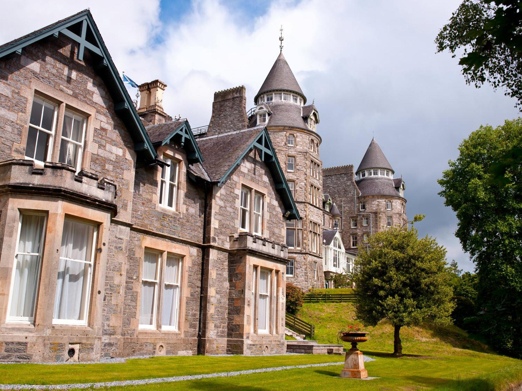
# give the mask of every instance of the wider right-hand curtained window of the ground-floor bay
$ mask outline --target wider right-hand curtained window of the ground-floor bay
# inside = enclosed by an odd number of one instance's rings
[[[64,219],[53,323],[87,324],[96,226]]]

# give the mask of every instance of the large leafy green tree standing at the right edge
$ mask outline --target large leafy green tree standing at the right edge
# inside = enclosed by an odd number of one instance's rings
[[[438,183],[457,214],[455,235],[476,264],[482,335],[522,358],[522,161],[506,161],[514,148],[522,148],[521,118],[481,126],[462,141]]]

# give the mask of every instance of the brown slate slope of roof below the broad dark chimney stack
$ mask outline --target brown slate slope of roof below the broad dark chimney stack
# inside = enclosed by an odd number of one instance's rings
[[[203,168],[212,182],[219,181],[227,173],[264,127],[257,126],[197,140],[204,158]]]

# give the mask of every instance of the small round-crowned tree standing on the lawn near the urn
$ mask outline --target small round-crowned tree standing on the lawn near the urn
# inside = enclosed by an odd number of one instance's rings
[[[369,238],[359,249],[352,274],[356,316],[375,326],[387,319],[394,326],[395,356],[402,355],[400,328],[425,320],[448,324],[454,304],[446,250],[435,239],[419,239],[411,229],[391,227]]]

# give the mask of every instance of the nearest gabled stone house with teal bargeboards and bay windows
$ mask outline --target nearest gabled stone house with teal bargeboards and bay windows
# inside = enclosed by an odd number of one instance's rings
[[[166,87],[136,110],[88,10],[0,46],[0,361],[286,351],[276,143]]]

